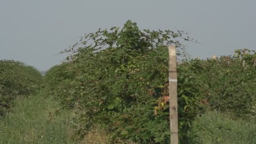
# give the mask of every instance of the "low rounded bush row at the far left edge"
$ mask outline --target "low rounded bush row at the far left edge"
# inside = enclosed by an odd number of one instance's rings
[[[10,108],[17,96],[35,92],[42,83],[42,75],[37,69],[22,62],[0,60],[0,113]]]

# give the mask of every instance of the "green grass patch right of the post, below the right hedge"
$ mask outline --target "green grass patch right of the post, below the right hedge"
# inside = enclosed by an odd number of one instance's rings
[[[208,112],[193,122],[192,135],[199,144],[256,144],[256,120]]]

